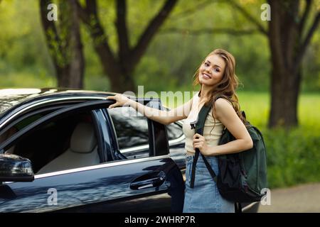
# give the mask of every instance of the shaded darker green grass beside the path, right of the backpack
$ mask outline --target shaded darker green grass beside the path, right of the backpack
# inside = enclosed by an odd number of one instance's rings
[[[271,188],[320,179],[319,126],[263,130],[267,145],[268,180]]]

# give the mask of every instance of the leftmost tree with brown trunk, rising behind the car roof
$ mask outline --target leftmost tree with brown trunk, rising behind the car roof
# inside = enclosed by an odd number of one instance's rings
[[[84,57],[80,37],[80,19],[76,0],[59,1],[58,21],[49,21],[49,0],[39,0],[41,22],[49,54],[53,60],[58,87],[83,87]]]

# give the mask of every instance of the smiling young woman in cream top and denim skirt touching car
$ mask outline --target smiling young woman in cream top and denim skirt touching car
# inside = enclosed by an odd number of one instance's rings
[[[182,106],[171,111],[159,111],[144,106],[122,94],[108,96],[114,99],[116,106],[129,105],[144,116],[163,124],[186,119],[183,123],[183,133],[186,135],[186,192],[183,212],[234,212],[233,202],[220,196],[206,165],[199,156],[196,165],[194,187],[190,187],[191,167],[195,149],[206,156],[211,167],[218,175],[218,160],[215,155],[238,153],[252,148],[252,139],[245,128],[244,119],[240,114],[238,96],[238,78],[235,75],[235,58],[229,52],[221,49],[213,50],[201,62],[194,75],[194,84],[200,84],[200,91]],[[190,122],[196,121],[201,107],[211,105],[213,108],[206,118],[203,135],[195,134]],[[218,145],[223,128],[226,127],[236,140],[224,145]]]

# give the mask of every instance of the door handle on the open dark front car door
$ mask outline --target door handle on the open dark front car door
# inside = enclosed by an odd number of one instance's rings
[[[166,175],[164,172],[159,172],[158,175],[152,176],[151,175],[144,175],[142,177],[138,177],[134,179],[133,182],[130,183],[130,189],[139,190],[139,189],[147,189],[150,187],[159,187],[163,184],[166,180]]]

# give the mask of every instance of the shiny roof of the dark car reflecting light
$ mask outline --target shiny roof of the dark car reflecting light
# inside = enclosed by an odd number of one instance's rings
[[[107,97],[117,93],[98,92],[88,90],[76,90],[65,88],[22,88],[22,89],[0,89],[0,115],[3,115],[9,109],[28,102],[42,101],[43,99],[52,99],[57,97],[75,97],[97,96]]]

